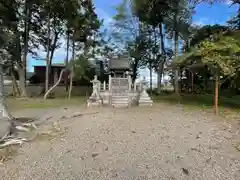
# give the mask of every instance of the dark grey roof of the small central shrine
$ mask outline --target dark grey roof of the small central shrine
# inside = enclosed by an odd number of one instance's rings
[[[113,58],[110,59],[108,62],[108,67],[109,69],[130,69],[130,63],[128,59],[122,58],[122,59],[117,59]]]

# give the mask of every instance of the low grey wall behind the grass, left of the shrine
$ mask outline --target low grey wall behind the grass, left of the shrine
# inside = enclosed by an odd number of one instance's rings
[[[42,86],[36,85],[28,85],[27,92],[30,97],[36,97],[40,94],[42,90]],[[4,85],[4,92],[7,96],[13,94],[12,85]],[[92,92],[92,87],[90,86],[73,86],[72,88],[72,96],[90,96]],[[53,93],[57,97],[66,96],[68,93],[66,92],[65,86],[57,86]]]

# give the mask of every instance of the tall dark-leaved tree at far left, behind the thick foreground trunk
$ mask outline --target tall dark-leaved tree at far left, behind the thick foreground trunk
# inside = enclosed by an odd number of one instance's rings
[[[26,64],[28,53],[33,52],[36,47],[34,33],[37,32],[41,25],[39,22],[40,0],[17,1],[2,0],[1,7],[3,24],[11,34],[11,42],[4,49],[11,55],[12,64],[17,66],[20,80],[21,96],[26,97]]]

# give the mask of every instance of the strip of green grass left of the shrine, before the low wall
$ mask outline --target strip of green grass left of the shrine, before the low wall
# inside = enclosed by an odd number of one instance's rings
[[[43,100],[42,98],[7,98],[7,105],[9,109],[25,109],[25,108],[53,108],[61,107],[64,105],[82,105],[86,102],[86,97],[72,97],[70,100],[67,98],[54,98]]]

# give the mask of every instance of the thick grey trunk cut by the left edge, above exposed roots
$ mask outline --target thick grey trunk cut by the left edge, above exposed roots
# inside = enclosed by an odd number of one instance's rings
[[[10,133],[11,120],[12,116],[5,104],[3,68],[0,64],[0,139]]]

